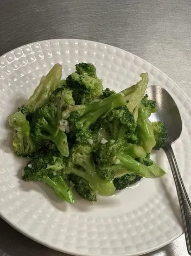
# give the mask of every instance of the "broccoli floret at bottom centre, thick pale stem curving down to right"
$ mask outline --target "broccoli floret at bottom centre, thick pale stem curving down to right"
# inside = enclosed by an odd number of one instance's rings
[[[92,190],[102,195],[113,195],[115,193],[113,182],[102,180],[97,174],[90,145],[76,144],[71,148],[68,169],[70,173],[89,182]]]

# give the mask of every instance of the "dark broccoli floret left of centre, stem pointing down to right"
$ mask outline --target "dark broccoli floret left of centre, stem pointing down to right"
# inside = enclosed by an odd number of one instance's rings
[[[59,113],[59,109],[52,102],[38,108],[31,122],[32,136],[38,144],[43,141],[53,141],[60,153],[68,156],[67,136],[58,127]]]

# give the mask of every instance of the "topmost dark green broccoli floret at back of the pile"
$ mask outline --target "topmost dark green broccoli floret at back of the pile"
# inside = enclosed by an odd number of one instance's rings
[[[96,76],[96,67],[91,63],[76,64],[76,72],[66,78],[73,91],[76,104],[92,102],[102,95],[102,81]]]

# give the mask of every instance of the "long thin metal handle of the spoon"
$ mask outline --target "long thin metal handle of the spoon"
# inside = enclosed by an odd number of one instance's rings
[[[178,201],[182,212],[183,224],[185,229],[185,240],[188,253],[191,255],[191,202],[182,181],[178,164],[171,146],[164,148],[168,161],[172,169],[172,175],[176,184]]]

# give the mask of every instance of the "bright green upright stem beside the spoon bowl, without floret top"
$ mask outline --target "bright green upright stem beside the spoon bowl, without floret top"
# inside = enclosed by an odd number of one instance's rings
[[[155,146],[156,141],[154,138],[154,132],[151,122],[148,119],[148,113],[146,108],[140,106],[138,110],[138,136],[141,141],[141,146],[147,153],[151,153],[152,148]]]

